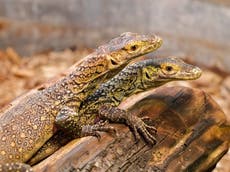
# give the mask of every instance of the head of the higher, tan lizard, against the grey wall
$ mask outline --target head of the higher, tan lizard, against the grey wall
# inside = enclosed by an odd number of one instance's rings
[[[100,46],[97,52],[106,54],[111,68],[128,63],[135,57],[153,52],[162,45],[162,39],[156,35],[141,35],[125,32]]]

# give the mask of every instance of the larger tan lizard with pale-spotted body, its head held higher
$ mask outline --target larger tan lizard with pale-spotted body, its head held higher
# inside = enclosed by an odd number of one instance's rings
[[[26,168],[22,163],[57,131],[54,121],[63,106],[77,109],[91,89],[161,44],[156,35],[123,33],[73,65],[66,76],[43,84],[4,108],[0,112],[0,171]]]

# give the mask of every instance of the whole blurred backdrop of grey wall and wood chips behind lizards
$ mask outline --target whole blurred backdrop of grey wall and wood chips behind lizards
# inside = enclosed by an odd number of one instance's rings
[[[230,0],[0,0],[0,107],[127,31],[155,33],[154,55],[201,66],[199,80],[176,84],[211,94],[230,121]],[[230,151],[215,172],[229,162]]]

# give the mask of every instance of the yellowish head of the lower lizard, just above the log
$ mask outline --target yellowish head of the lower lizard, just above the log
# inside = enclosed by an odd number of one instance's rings
[[[142,69],[142,82],[146,86],[159,86],[174,80],[194,80],[201,74],[199,67],[176,57],[149,59]]]

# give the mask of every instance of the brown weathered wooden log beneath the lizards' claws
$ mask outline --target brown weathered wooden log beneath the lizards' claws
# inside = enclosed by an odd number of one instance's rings
[[[158,130],[155,146],[136,143],[128,127],[112,124],[116,136],[73,140],[34,171],[202,171],[212,169],[227,152],[230,125],[204,91],[161,87],[134,97],[120,108],[150,118],[146,122]]]

